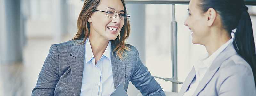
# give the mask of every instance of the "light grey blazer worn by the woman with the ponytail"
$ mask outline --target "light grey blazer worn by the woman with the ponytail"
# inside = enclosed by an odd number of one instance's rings
[[[193,67],[179,96],[184,95],[195,75]],[[213,61],[193,96],[256,96],[252,69],[236,53],[232,43]]]

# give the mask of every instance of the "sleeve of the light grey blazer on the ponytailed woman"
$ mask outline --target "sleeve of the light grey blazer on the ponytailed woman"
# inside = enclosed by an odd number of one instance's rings
[[[221,73],[219,96],[256,96],[252,69],[248,66],[233,65]]]

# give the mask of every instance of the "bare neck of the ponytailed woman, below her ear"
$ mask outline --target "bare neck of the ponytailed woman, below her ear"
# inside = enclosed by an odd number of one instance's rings
[[[209,56],[212,55],[216,50],[220,48],[223,44],[225,44],[228,40],[231,39],[231,35],[225,29],[213,29],[209,41],[204,44]]]

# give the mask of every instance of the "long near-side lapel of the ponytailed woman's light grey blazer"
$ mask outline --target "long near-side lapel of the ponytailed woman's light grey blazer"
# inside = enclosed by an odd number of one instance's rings
[[[219,56],[216,57],[216,59],[212,62],[212,65],[209,67],[207,72],[205,73],[202,81],[199,83],[198,87],[195,90],[194,95],[197,96],[204,87],[208,84],[208,82],[212,79],[214,74],[217,72],[217,70],[220,68],[220,65],[227,60],[229,57],[237,54],[236,50],[233,47],[233,44],[230,43],[227,48],[225,48]]]

